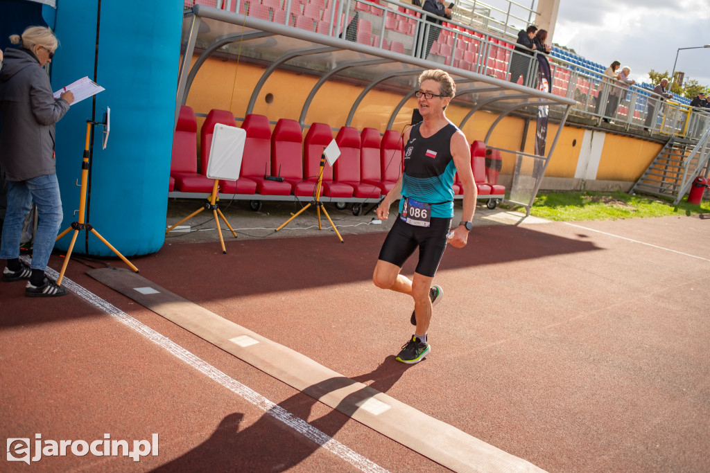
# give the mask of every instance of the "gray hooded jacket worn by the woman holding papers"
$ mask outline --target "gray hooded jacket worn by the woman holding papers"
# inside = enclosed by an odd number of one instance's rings
[[[69,110],[29,50],[8,48],[0,69],[0,170],[8,181],[56,174],[55,123]]]

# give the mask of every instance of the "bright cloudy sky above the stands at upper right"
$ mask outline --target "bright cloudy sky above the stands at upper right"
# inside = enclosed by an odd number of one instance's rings
[[[673,69],[678,48],[710,44],[710,0],[560,0],[552,42],[633,79]],[[681,50],[677,71],[710,87],[710,48]]]

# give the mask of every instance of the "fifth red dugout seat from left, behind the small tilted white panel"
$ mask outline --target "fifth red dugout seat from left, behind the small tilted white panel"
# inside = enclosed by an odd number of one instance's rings
[[[323,150],[333,140],[333,132],[325,123],[313,123],[306,133],[303,157],[303,169],[306,180],[310,183],[308,195],[315,194],[315,184],[320,172],[320,158]],[[323,167],[323,186],[321,195],[327,197],[352,197],[353,188],[347,184],[333,182],[333,168],[325,162]]]

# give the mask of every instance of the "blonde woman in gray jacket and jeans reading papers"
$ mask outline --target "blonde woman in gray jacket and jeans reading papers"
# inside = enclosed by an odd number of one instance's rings
[[[55,167],[55,123],[67,113],[74,94],[55,99],[47,73],[58,41],[50,28],[31,26],[22,38],[10,36],[21,48],[5,50],[0,70],[0,170],[7,181],[7,210],[0,242],[0,259],[7,260],[2,280],[28,279],[26,296],[63,296],[67,290],[45,276],[59,226],[62,200]],[[32,263],[21,262],[22,223],[31,202],[37,206]]]

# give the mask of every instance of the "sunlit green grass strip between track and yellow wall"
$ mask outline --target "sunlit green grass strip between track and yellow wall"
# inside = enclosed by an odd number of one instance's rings
[[[525,212],[523,207],[513,210]],[[622,191],[552,191],[537,194],[530,214],[554,221],[616,220],[618,218],[663,217],[710,213],[710,203],[677,207],[672,202],[650,196],[631,196]]]

